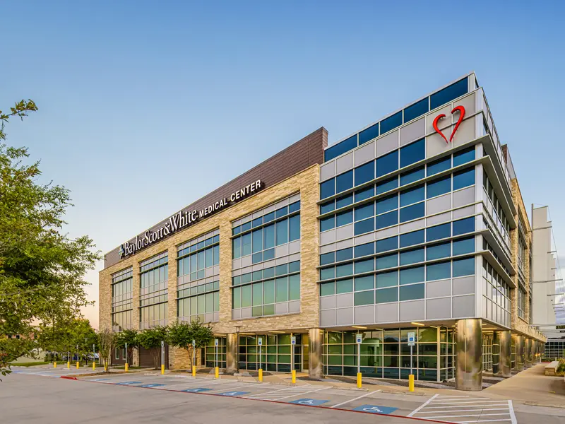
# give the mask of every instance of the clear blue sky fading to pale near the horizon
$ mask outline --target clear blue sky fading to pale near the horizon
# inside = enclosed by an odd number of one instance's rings
[[[326,127],[330,144],[475,71],[521,192],[565,255],[563,1],[11,1],[6,128],[108,252]],[[565,266],[565,256],[561,259]],[[98,272],[86,276],[98,299]],[[97,326],[97,305],[85,310]]]

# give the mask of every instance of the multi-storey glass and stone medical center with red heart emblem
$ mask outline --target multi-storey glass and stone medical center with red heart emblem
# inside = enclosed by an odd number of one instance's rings
[[[327,140],[314,131],[108,252],[101,328],[198,317],[230,371],[359,365],[468,390],[539,360],[532,230],[475,73]],[[213,346],[198,364],[215,365]]]

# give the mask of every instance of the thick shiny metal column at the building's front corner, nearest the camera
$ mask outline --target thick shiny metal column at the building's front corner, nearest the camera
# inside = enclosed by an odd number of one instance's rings
[[[456,389],[482,390],[482,319],[457,322]]]

